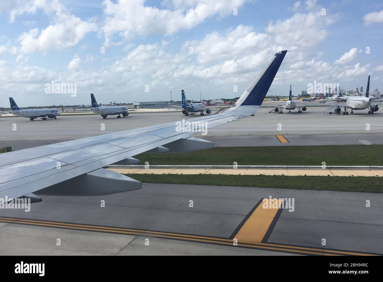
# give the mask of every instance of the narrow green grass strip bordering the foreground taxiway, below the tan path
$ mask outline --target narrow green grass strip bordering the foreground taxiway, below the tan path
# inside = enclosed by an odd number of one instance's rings
[[[141,182],[383,193],[382,177],[128,174]]]

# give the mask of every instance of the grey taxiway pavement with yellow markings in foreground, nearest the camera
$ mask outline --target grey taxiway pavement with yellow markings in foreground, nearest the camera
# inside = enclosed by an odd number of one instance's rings
[[[382,194],[146,185],[107,196],[43,196],[29,212],[0,209],[0,254],[383,253]],[[269,197],[294,204],[264,208]]]

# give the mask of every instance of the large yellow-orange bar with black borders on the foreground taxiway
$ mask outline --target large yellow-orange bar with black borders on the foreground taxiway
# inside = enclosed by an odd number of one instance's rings
[[[234,238],[238,241],[262,242],[282,202],[283,199],[264,198]]]

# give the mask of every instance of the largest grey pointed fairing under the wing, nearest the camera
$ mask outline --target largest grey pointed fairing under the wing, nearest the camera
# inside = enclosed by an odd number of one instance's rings
[[[99,196],[141,189],[141,182],[105,168],[99,168],[36,191],[49,196]]]

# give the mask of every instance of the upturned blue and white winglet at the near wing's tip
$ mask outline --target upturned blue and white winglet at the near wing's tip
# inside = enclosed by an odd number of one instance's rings
[[[265,66],[265,68],[260,72],[257,78],[247,87],[246,91],[238,99],[234,107],[228,109],[228,111],[237,111],[241,109],[239,114],[241,116],[246,116],[254,114],[259,108],[259,106],[264,101],[268,89],[270,88],[275,75],[278,72],[280,65],[282,64],[283,58],[285,58],[287,50],[280,51],[275,54],[272,60]],[[245,109],[244,106],[248,109]],[[243,109],[243,110],[242,110]]]

